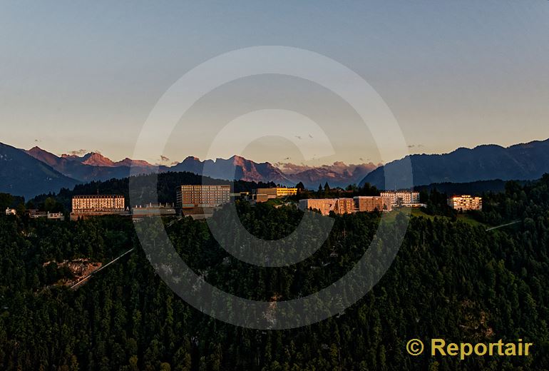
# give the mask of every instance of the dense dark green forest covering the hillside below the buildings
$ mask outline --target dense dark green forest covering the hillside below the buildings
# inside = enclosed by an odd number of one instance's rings
[[[129,219],[2,215],[0,370],[549,370],[549,176],[486,193],[483,212],[466,219],[444,210],[436,190],[423,197],[428,208],[411,216],[374,290],[340,315],[292,330],[235,327],[195,310],[158,278]],[[66,203],[63,194],[58,202]],[[288,235],[302,217],[291,205],[237,202],[237,211],[245,228],[265,239]],[[166,229],[183,260],[212,285],[244,298],[284,300],[342,277],[380,223],[378,213],[332,218],[326,243],[292,268],[242,263],[201,221],[183,218]],[[401,218],[381,223],[391,228]],[[511,221],[519,223],[486,230]],[[76,290],[59,284],[70,271],[44,264],[106,263],[130,248]],[[460,361],[406,353],[409,339],[433,337],[520,338],[534,343],[533,355]]]

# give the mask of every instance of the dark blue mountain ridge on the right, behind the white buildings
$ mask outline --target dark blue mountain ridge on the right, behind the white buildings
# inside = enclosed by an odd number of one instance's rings
[[[533,180],[549,173],[549,139],[516,144],[504,148],[496,145],[458,148],[442,155],[411,155],[376,168],[361,181],[381,189],[402,188],[409,183],[404,176],[395,184],[385,184],[384,172],[394,172],[404,161],[411,162],[414,185],[431,183],[466,183],[501,179]]]

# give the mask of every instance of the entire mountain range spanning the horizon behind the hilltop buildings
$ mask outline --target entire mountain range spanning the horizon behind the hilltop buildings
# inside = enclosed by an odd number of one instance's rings
[[[332,187],[370,183],[385,189],[386,169],[394,171],[406,161],[411,163],[414,185],[493,179],[527,181],[549,173],[549,139],[507,148],[483,145],[458,148],[451,153],[411,155],[384,166],[373,163],[346,165],[342,162],[323,166],[255,163],[241,156],[205,161],[189,156],[172,166],[157,166],[130,158],[112,161],[97,152],[83,156],[56,156],[39,147],[26,151],[0,143],[0,192],[30,198],[40,193],[72,188],[78,183],[125,178],[130,175],[130,170],[132,173],[188,171],[212,178],[274,182],[281,185],[295,185],[301,181],[311,189],[326,182]],[[402,176],[387,188],[402,188],[407,183],[409,179]]]

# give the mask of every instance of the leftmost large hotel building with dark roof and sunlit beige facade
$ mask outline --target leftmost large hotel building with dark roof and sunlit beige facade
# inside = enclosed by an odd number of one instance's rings
[[[71,220],[94,215],[124,213],[123,195],[75,195],[72,200]]]

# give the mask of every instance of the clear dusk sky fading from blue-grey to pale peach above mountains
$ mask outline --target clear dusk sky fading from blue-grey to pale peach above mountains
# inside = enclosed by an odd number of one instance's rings
[[[252,46],[311,51],[354,71],[386,103],[409,153],[549,138],[548,1],[193,3],[2,1],[0,142],[131,157],[145,124],[165,125],[151,122],[151,112],[183,76]],[[183,88],[198,92],[201,82]],[[163,149],[143,159],[399,158],[400,149],[374,135],[389,123],[372,121],[318,81],[245,76],[202,94]],[[272,136],[273,126],[286,137]],[[331,146],[315,142],[321,137]]]

